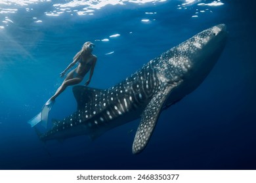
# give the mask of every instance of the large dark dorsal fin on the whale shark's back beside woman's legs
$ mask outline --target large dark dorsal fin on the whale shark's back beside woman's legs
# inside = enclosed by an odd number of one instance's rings
[[[77,101],[77,109],[85,107],[87,103],[95,101],[97,95],[101,95],[104,90],[89,88],[87,86],[74,86],[73,93]]]

